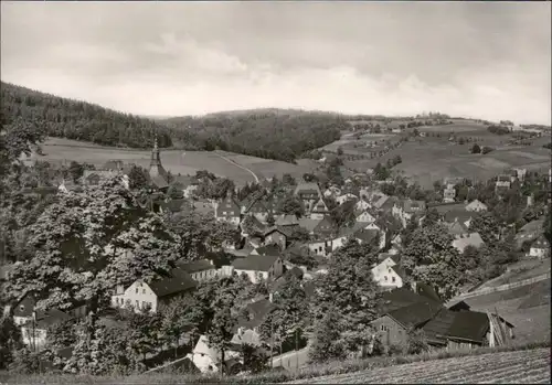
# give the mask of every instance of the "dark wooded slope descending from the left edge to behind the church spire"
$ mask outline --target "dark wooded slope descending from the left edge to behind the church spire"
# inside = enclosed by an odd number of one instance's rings
[[[42,125],[51,137],[104,146],[150,148],[153,132],[160,147],[201,149],[192,136],[152,119],[118,113],[94,104],[67,99],[1,83],[2,114],[9,120]]]

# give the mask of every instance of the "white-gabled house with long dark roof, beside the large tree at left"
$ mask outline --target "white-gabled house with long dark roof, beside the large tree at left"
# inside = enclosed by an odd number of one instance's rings
[[[116,288],[112,296],[112,306],[125,308],[131,306],[135,310],[149,309],[157,312],[159,307],[197,287],[198,282],[182,268],[174,268],[167,277],[150,282],[136,280],[126,289],[123,285]]]

